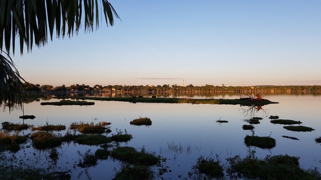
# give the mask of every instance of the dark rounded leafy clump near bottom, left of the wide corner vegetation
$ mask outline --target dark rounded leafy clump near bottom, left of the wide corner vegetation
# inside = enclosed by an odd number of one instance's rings
[[[220,165],[220,161],[215,161],[212,158],[204,158],[203,156],[199,157],[193,168],[198,169],[201,173],[212,178],[221,178],[224,176],[224,169],[223,166]]]

